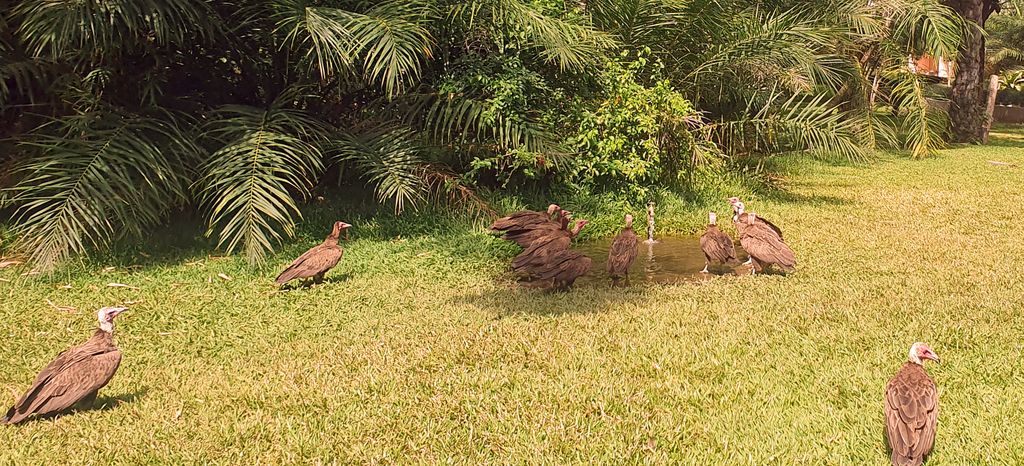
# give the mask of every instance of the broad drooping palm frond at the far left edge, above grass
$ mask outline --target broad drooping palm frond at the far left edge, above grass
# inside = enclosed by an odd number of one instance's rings
[[[168,119],[94,112],[51,120],[11,189],[22,247],[42,270],[72,254],[140,236],[184,200],[199,149]]]

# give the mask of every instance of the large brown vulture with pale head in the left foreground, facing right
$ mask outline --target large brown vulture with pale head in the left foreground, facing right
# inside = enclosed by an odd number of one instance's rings
[[[0,422],[17,424],[32,415],[61,413],[79,401],[91,406],[96,392],[111,381],[121,364],[121,350],[114,344],[114,317],[125,310],[99,309],[99,328],[92,338],[61,352],[47,365]]]

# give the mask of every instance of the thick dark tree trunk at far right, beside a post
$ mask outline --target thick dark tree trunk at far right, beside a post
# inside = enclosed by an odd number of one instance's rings
[[[985,101],[982,95],[982,72],[985,68],[985,37],[981,28],[984,2],[962,0],[957,12],[968,30],[956,57],[949,123],[956,142],[981,142],[985,136]]]

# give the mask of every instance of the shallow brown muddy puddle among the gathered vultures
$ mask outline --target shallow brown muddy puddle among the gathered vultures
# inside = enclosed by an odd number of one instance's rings
[[[613,238],[597,240],[573,245],[573,249],[583,252],[594,260],[590,272],[577,280],[578,284],[610,283],[605,264],[608,261],[608,248]],[[660,238],[654,244],[643,241],[638,245],[637,260],[630,267],[630,283],[673,284],[680,282],[695,282],[708,280],[716,274],[750,273],[750,268],[739,266],[715,266],[709,269],[712,273],[700,273],[705,266],[703,253],[700,252],[700,237],[667,237]],[[739,261],[746,260],[746,254],[736,246]]]

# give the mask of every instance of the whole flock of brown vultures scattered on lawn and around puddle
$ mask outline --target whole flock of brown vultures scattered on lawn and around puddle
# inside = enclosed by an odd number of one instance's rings
[[[730,198],[729,203],[739,244],[750,256],[746,264],[751,265],[751,273],[772,265],[783,271],[794,270],[796,257],[782,240],[781,229],[753,212],[745,212],[739,199]],[[566,289],[592,265],[590,257],[570,248],[572,239],[588,221],[571,222],[571,212],[552,204],[545,212],[521,211],[502,217],[490,225],[490,229],[523,248],[512,261],[513,270],[530,279],[550,281],[555,289]],[[343,250],[338,241],[342,232],[347,239],[350,227],[343,221],[335,222],[327,239],[289,264],[275,283],[284,285],[293,280],[322,283],[324,276],[341,260]],[[708,272],[713,263],[738,262],[733,241],[718,228],[715,212],[709,213],[700,249],[707,261],[701,272]],[[613,280],[628,279],[630,265],[636,257],[633,216],[627,214],[626,226],[608,251],[608,274]],[[48,417],[76,406],[91,406],[96,393],[110,382],[121,364],[121,350],[114,342],[114,320],[125,310],[127,308],[122,306],[99,309],[99,326],[92,337],[59,353],[47,365],[0,423],[17,424],[34,416]],[[928,359],[938,363],[939,357],[928,345],[914,343],[907,363],[886,385],[886,438],[895,466],[922,464],[935,443],[938,391],[924,369],[923,363]]]

